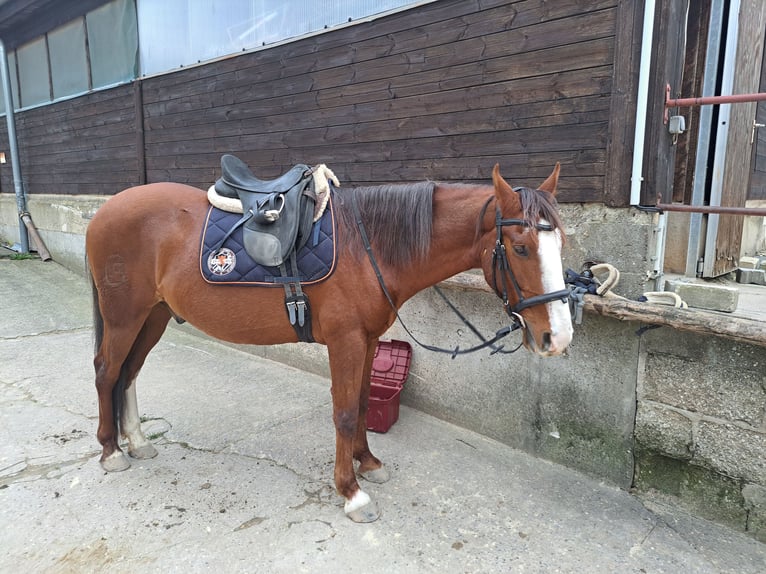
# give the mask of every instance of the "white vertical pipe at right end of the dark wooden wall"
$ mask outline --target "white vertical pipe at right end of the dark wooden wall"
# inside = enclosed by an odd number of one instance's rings
[[[633,136],[633,168],[630,176],[630,204],[641,203],[641,182],[644,177],[644,140],[646,139],[646,114],[649,105],[649,70],[652,64],[652,38],[654,37],[654,3],[644,4],[644,25],[641,33],[641,63],[638,72],[636,97],[636,131]]]

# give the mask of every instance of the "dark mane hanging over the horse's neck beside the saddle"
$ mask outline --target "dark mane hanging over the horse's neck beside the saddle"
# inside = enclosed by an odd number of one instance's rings
[[[386,265],[399,265],[425,257],[431,246],[433,182],[337,189],[334,206],[338,215],[341,248],[352,244],[363,252],[351,205],[356,198],[375,257]]]

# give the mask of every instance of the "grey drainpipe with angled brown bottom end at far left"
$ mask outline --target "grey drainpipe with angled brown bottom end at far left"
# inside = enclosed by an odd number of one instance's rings
[[[16,207],[19,210],[19,244],[22,253],[29,253],[29,235],[35,241],[37,253],[40,259],[48,261],[51,254],[43,243],[42,237],[37,232],[32,217],[27,211],[27,198],[24,195],[24,184],[21,180],[21,165],[19,163],[19,146],[16,140],[16,121],[13,112],[13,92],[11,91],[11,75],[8,71],[8,58],[5,53],[5,43],[0,39],[0,80],[3,84],[3,97],[5,98],[5,120],[8,124],[8,148],[11,154],[11,168],[13,170],[13,188],[16,191]]]

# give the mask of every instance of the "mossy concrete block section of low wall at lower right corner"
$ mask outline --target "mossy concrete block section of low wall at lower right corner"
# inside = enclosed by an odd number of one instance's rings
[[[766,350],[658,329],[639,357],[635,486],[766,541]]]

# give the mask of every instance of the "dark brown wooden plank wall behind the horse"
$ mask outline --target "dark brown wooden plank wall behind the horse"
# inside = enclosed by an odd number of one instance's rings
[[[26,187],[206,187],[223,153],[263,178],[323,162],[349,184],[486,182],[496,162],[512,183],[536,184],[558,161],[561,201],[624,205],[627,188],[605,175],[615,180],[612,162],[629,177],[635,41],[616,34],[635,32],[634,4],[441,0],[22,112]],[[13,191],[10,166],[0,189]]]

